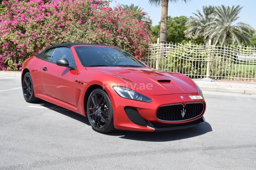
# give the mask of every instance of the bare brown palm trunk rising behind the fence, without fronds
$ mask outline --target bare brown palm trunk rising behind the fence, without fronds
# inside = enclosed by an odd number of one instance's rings
[[[162,0],[161,4],[160,43],[167,42],[168,1]]]

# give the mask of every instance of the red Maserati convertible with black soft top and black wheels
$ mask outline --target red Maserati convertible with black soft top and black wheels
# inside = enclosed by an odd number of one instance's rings
[[[27,102],[39,98],[88,117],[99,133],[202,125],[205,101],[189,77],[148,67],[122,49],[65,43],[25,60]]]

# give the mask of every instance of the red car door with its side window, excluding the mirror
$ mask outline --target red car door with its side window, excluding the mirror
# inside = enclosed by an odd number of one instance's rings
[[[60,58],[66,58],[75,67],[74,58],[69,48],[59,47],[46,51],[44,59],[48,62],[45,62],[41,68],[43,87],[46,95],[52,99],[76,106],[77,102],[74,99],[76,69],[58,66],[56,60]]]

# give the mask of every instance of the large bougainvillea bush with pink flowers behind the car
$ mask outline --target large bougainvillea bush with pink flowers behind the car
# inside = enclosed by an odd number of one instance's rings
[[[143,59],[147,26],[106,0],[3,1],[0,18],[0,70],[15,71],[28,57],[67,42],[120,47]],[[143,14],[141,14],[143,15]]]

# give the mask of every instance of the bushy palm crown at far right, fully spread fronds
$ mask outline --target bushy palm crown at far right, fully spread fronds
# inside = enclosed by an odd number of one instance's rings
[[[250,39],[255,30],[248,24],[243,22],[234,22],[239,18],[243,7],[238,6],[217,6],[216,17],[209,23],[205,36],[211,38],[214,45],[229,43],[237,43],[241,45],[244,42],[246,45],[250,42]]]

